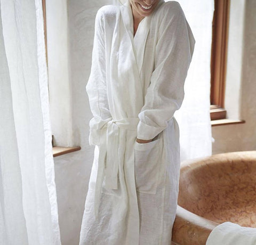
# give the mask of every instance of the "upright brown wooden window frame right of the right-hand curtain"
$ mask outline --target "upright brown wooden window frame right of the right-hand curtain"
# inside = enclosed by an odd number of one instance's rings
[[[230,0],[215,0],[212,25],[211,104],[224,108]]]

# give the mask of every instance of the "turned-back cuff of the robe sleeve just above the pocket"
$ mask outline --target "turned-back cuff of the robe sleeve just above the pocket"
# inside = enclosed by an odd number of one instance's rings
[[[142,123],[142,121],[139,121],[139,124],[137,126],[137,138],[140,138],[140,140],[151,140],[156,135],[161,133],[164,129],[164,127],[149,126]]]

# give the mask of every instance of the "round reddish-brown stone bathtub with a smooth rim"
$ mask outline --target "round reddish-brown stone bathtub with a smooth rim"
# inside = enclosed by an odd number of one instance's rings
[[[256,227],[256,151],[182,162],[173,244],[205,244],[223,222]]]

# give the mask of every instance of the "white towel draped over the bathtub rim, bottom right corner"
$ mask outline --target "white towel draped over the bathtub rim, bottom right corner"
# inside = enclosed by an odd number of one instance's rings
[[[216,226],[210,233],[206,245],[255,245],[256,228],[243,227],[231,222]]]

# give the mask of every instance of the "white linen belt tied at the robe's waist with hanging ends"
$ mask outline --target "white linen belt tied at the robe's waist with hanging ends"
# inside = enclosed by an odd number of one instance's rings
[[[98,174],[95,184],[94,212],[98,216],[101,188],[118,189],[118,170],[123,167],[126,130],[137,130],[139,118],[111,120],[102,128],[99,145]],[[122,130],[124,129],[124,130]]]

